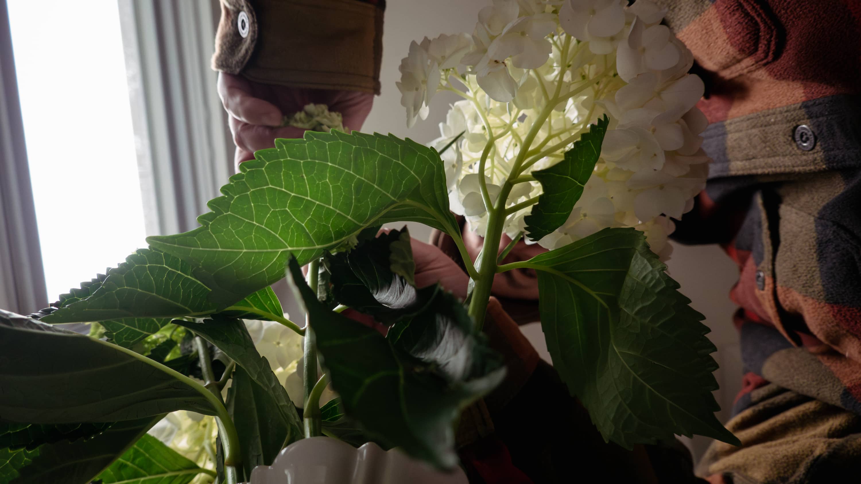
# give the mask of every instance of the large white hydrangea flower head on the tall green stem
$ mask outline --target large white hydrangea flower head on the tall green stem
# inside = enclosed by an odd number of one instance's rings
[[[697,107],[703,81],[688,73],[691,52],[650,0],[492,0],[473,34],[412,42],[400,64],[407,125],[425,119],[440,91],[463,97],[440,124],[452,211],[486,230],[489,201],[513,184],[505,233],[542,193],[530,175],[559,162],[604,114],[600,158],[567,222],[538,242],[559,248],[607,227],[635,227],[669,257],[672,218],[693,207],[709,158],[708,122]],[[487,199],[482,193],[486,189]],[[512,211],[512,210],[510,210]],[[506,211],[508,213],[509,211]],[[527,234],[528,236],[528,234]]]

